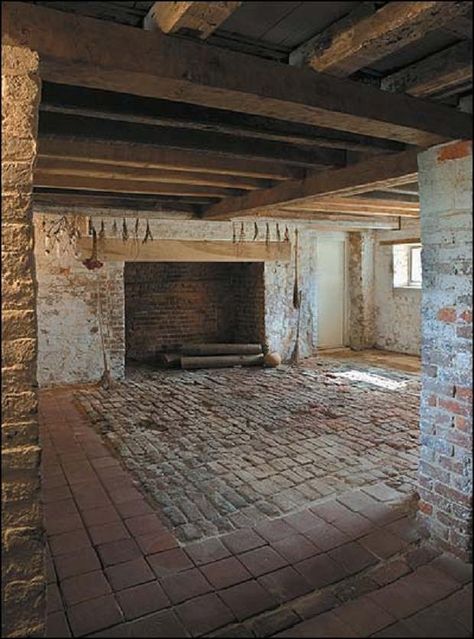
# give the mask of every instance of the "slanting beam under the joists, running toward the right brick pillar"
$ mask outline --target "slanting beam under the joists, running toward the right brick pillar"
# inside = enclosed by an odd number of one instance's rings
[[[288,180],[269,189],[230,197],[211,205],[205,219],[231,220],[242,215],[263,215],[275,207],[309,205],[322,196],[348,197],[417,179],[415,150],[371,158],[343,169],[312,171],[301,180]]]

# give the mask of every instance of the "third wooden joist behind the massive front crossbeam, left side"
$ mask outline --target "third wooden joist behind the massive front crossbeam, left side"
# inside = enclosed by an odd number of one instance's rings
[[[303,177],[305,171],[278,162],[237,160],[216,154],[154,147],[149,144],[104,142],[70,136],[40,136],[38,155],[55,160],[80,160],[91,164],[113,164],[141,169],[165,169],[183,173],[199,171],[269,180]],[[92,169],[93,170],[93,169]]]

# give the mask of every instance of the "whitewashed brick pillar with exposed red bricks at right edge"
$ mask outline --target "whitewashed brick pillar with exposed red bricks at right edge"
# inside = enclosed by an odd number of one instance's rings
[[[472,144],[419,156],[422,249],[420,517],[465,559],[472,542]]]

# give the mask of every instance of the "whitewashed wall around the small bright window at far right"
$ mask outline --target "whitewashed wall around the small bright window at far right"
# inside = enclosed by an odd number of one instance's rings
[[[393,286],[393,246],[384,240],[419,237],[418,221],[400,231],[376,231],[375,237],[375,346],[411,355],[420,354],[421,289]]]

